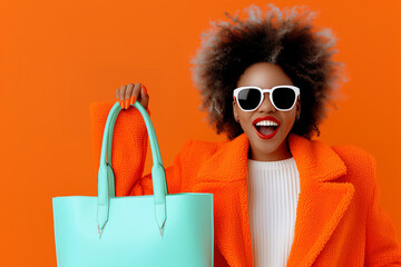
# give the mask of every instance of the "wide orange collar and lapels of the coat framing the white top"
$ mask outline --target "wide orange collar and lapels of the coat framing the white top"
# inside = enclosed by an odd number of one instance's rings
[[[199,169],[198,178],[209,192],[218,194],[222,187],[231,185],[231,196],[239,196],[239,199],[225,199],[224,209],[215,211],[215,216],[224,216],[224,219],[215,218],[218,224],[215,230],[221,233],[215,236],[215,243],[229,266],[238,266],[238,263],[252,266],[246,187],[250,140],[244,132],[218,146],[219,149]],[[287,266],[311,266],[349,207],[354,187],[335,181],[346,174],[346,167],[330,146],[290,134],[288,147],[300,172],[301,192]],[[242,231],[242,241],[238,236],[229,235],[238,235],[237,231]]]

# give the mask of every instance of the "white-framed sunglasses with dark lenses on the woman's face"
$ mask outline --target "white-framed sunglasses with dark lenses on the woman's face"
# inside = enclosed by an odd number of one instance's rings
[[[242,110],[254,111],[262,105],[265,92],[268,92],[272,105],[280,111],[291,110],[297,97],[301,98],[301,90],[295,86],[276,86],[272,89],[246,86],[234,89],[233,95]]]

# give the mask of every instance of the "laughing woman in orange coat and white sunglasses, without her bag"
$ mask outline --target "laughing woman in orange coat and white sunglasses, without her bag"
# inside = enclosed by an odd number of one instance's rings
[[[169,194],[214,194],[216,267],[401,266],[373,156],[311,140],[342,78],[331,60],[333,37],[313,32],[313,13],[294,8],[284,18],[270,7],[262,18],[252,4],[246,21],[227,14],[233,24],[204,34],[194,80],[211,123],[228,140],[187,141],[165,169]],[[149,95],[138,82],[116,96],[127,109],[115,128],[116,194],[150,195],[147,132],[129,109],[135,100],[147,109]],[[91,108],[95,162],[110,108]]]

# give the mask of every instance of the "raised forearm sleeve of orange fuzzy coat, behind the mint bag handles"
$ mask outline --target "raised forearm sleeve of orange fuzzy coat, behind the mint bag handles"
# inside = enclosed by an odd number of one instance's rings
[[[102,136],[107,117],[115,101],[92,102],[90,122],[96,175],[100,165]],[[149,109],[147,110],[150,116]],[[148,134],[139,110],[130,107],[120,110],[116,119],[113,145],[111,166],[115,174],[116,196],[127,196],[145,167]]]

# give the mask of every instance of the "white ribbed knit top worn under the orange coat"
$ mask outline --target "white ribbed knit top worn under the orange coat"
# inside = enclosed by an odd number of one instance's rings
[[[247,190],[253,266],[285,267],[301,191],[294,158],[248,159]]]

